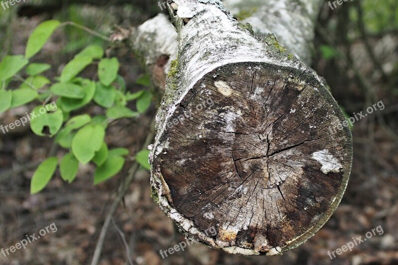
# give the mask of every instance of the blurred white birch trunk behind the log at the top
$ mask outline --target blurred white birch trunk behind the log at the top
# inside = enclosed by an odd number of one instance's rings
[[[311,63],[314,27],[322,0],[223,0],[231,14],[251,14],[256,34],[274,33],[278,41],[299,60]]]

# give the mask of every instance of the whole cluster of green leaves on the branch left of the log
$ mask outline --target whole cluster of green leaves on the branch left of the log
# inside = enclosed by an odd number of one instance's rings
[[[24,55],[5,56],[0,62],[0,113],[34,100],[42,102],[29,115],[31,130],[38,136],[52,137],[56,145],[69,151],[61,159],[50,156],[38,166],[31,180],[32,194],[47,186],[58,167],[62,179],[69,183],[75,180],[79,166],[88,163],[96,166],[94,184],[119,173],[129,151],[124,148],[109,149],[104,140],[106,129],[115,120],[136,118],[146,112],[153,97],[147,89],[126,92],[124,79],[118,74],[120,65],[117,58],[105,58],[104,50],[97,45],[76,54],[65,65],[61,75],[54,78],[55,81],[45,77],[44,73],[52,66],[30,63],[30,60],[40,52],[56,29],[66,25],[109,40],[73,22],[48,20],[33,30]],[[79,76],[89,66],[97,67],[95,78],[98,77],[98,80]],[[15,83],[19,83],[18,88],[8,88]],[[149,79],[145,77],[137,83],[150,86]],[[130,101],[136,102],[136,111],[127,107]],[[100,106],[103,114],[91,116],[77,113],[91,103]],[[148,151],[141,151],[135,157],[139,165],[149,169]]]

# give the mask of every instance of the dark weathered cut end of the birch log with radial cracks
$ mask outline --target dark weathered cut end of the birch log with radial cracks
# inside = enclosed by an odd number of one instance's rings
[[[166,121],[154,198],[189,238],[241,255],[297,247],[347,185],[352,139],[313,75],[266,63],[206,74]]]

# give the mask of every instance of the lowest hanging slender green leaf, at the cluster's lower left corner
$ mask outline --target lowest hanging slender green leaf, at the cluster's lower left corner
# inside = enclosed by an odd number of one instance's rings
[[[30,193],[35,194],[45,188],[57,169],[58,159],[50,157],[44,160],[33,174],[30,181]]]

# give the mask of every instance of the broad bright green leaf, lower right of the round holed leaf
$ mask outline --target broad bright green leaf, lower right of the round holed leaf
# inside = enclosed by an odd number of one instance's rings
[[[72,140],[72,152],[82,164],[89,163],[100,150],[105,136],[101,125],[86,125],[80,129]]]

